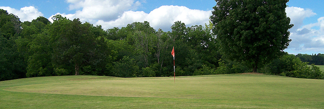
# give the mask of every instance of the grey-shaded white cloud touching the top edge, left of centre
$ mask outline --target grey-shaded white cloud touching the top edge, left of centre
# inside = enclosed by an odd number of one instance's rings
[[[75,17],[110,21],[117,19],[127,10],[136,10],[141,5],[134,0],[66,0],[69,9],[76,10]]]

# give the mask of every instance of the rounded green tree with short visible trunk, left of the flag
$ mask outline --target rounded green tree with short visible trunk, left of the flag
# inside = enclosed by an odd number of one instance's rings
[[[51,40],[54,44],[52,60],[56,68],[74,66],[75,75],[79,75],[83,66],[96,65],[105,60],[106,55],[98,51],[106,50],[104,39],[95,36],[102,34],[100,26],[93,27],[88,22],[69,20],[61,15],[56,15],[53,19],[49,34],[52,35]],[[98,43],[100,45],[97,45]]]

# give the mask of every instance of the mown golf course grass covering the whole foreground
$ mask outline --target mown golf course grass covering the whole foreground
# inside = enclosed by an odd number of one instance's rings
[[[0,81],[0,108],[322,108],[324,80],[263,74]]]

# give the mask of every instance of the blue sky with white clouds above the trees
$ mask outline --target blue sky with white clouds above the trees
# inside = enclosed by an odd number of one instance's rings
[[[290,54],[324,53],[324,0],[289,0],[287,16]],[[101,25],[103,29],[124,27],[135,21],[148,21],[154,29],[169,31],[175,21],[186,26],[209,23],[214,0],[0,0],[0,8],[21,21],[55,14]]]

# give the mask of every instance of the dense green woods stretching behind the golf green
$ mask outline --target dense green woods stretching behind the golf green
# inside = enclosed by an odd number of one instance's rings
[[[176,76],[251,72],[245,63],[228,60],[218,53],[218,40],[211,32],[212,27],[211,23],[186,27],[176,21],[171,31],[163,31],[144,21],[104,30],[100,25],[61,15],[55,15],[53,22],[42,16],[21,22],[16,15],[0,9],[0,80],[78,74],[173,76],[172,46]],[[300,59],[280,61],[302,63]],[[313,69],[316,66],[304,67],[304,63],[273,71],[275,67],[270,66],[281,66],[279,63],[263,65],[261,71],[303,78],[323,77],[321,71]],[[300,68],[307,72],[297,72]],[[289,74],[291,71],[295,71],[294,75]],[[317,76],[309,75],[313,73]]]

